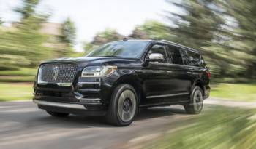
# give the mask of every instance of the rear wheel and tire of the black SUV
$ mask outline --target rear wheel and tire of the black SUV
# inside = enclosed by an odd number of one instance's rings
[[[199,86],[195,86],[190,94],[189,104],[184,105],[186,113],[199,114],[203,109],[203,90]]]

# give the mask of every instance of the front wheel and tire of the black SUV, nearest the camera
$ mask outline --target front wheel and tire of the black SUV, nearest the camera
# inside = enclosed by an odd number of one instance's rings
[[[118,85],[111,96],[106,120],[115,126],[128,126],[138,113],[138,96],[129,84]]]

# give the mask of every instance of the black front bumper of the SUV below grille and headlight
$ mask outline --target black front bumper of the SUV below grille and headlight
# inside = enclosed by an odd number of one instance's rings
[[[72,86],[34,82],[33,100],[44,110],[102,116],[108,108],[116,78],[115,75],[108,78],[78,77]]]

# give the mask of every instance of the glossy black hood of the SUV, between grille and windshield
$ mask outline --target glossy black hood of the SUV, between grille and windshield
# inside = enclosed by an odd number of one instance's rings
[[[78,65],[78,68],[84,68],[86,66],[95,66],[95,65],[129,65],[140,62],[139,59],[127,59],[120,57],[67,57],[67,58],[59,58],[55,60],[49,60],[47,62],[42,63],[69,63]]]

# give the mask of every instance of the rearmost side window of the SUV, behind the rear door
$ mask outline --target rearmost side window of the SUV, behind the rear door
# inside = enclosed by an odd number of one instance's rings
[[[187,62],[187,65],[197,66],[197,67],[205,67],[205,63],[203,58],[200,54],[196,52],[191,52],[189,50],[185,50],[185,57],[184,59]]]

